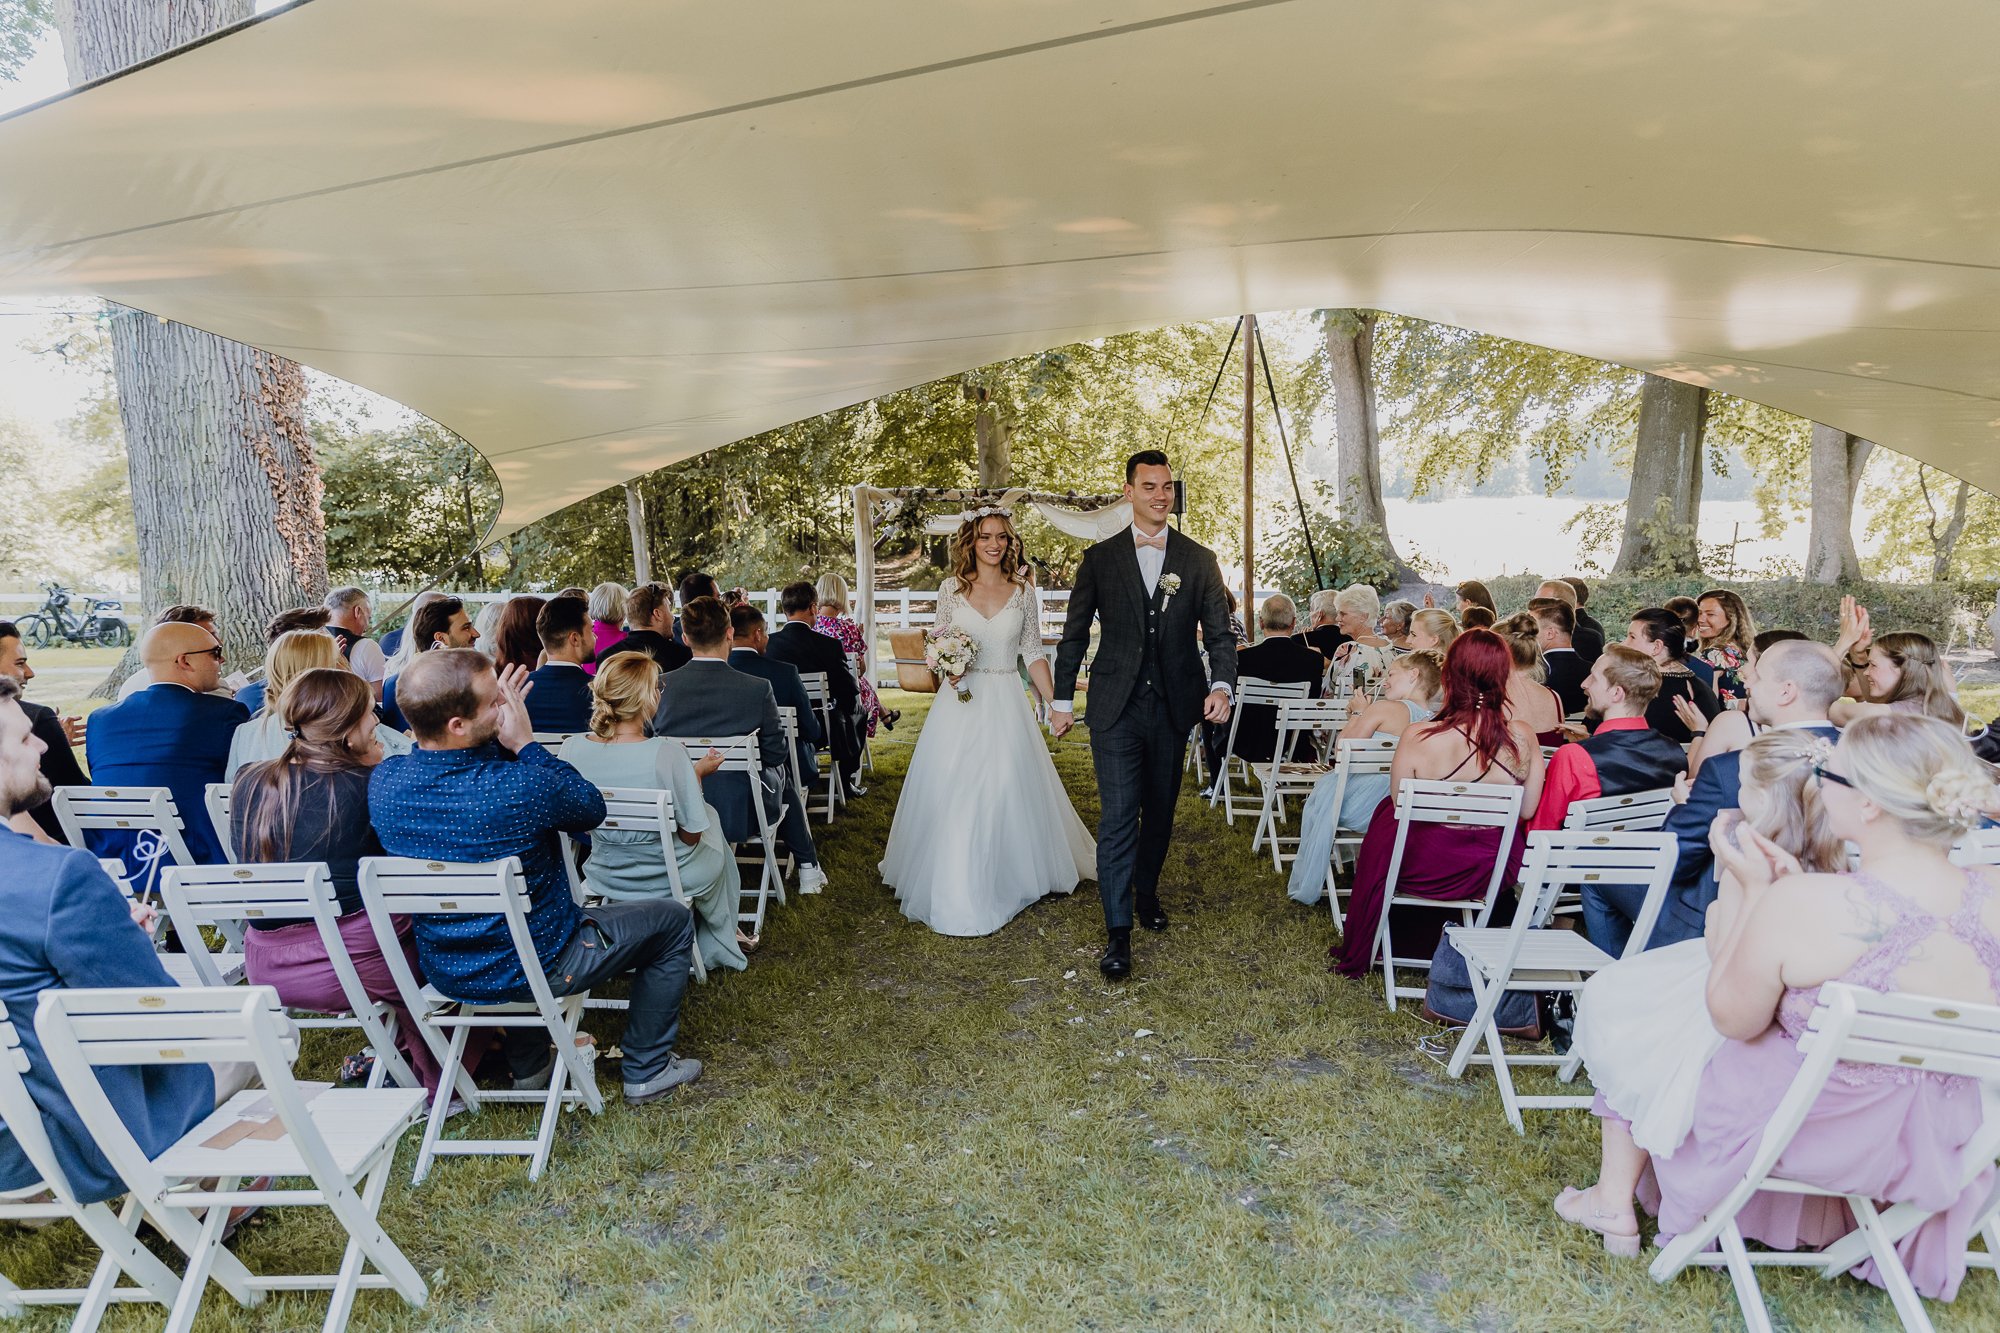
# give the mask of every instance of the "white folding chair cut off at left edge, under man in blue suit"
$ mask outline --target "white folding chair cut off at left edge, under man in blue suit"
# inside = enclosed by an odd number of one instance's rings
[[[68,1217],[102,1251],[90,1273],[88,1287],[18,1287],[0,1277],[0,1315],[14,1319],[34,1305],[76,1305],[72,1329],[94,1329],[112,1301],[152,1301],[172,1307],[180,1295],[180,1279],[138,1243],[138,1223],[144,1217],[136,1195],[128,1195],[114,1213],[108,1203],[78,1203],[70,1177],[62,1171],[56,1147],[48,1141],[42,1107],[28,1091],[28,1051],[20,1033],[0,1005],[0,1121],[20,1145],[36,1179],[0,1195],[0,1221],[36,1223]],[[36,1195],[50,1195],[38,1199]],[[130,1277],[136,1287],[120,1287]]]

